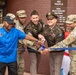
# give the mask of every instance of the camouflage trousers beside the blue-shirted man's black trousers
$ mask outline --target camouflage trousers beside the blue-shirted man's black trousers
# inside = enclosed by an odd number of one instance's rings
[[[18,50],[18,75],[23,75],[24,73],[24,58],[23,58],[23,52]]]

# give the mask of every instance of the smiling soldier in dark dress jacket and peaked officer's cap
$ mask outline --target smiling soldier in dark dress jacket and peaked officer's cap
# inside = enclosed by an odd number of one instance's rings
[[[57,26],[58,17],[49,12],[46,14],[47,25],[42,32],[42,35],[45,37],[48,43],[48,47],[55,45],[59,41],[63,40],[63,30]],[[63,51],[50,52],[50,75],[60,75]]]

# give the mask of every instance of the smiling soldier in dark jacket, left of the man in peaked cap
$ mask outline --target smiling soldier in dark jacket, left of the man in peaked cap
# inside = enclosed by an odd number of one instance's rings
[[[43,22],[39,19],[39,14],[36,10],[33,10],[31,12],[31,21],[27,24],[24,31],[25,33],[34,36],[35,38],[38,38],[38,34],[43,31]],[[41,54],[35,49],[29,47],[28,51],[30,55],[30,73],[31,75],[37,75],[37,69]]]

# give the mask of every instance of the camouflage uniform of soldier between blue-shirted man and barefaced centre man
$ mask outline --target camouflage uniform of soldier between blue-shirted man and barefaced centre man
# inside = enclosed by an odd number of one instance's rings
[[[19,21],[16,21],[16,28],[23,31],[23,25],[21,25],[19,23]],[[23,58],[23,43],[22,40],[19,40],[18,43],[18,58],[17,58],[17,62],[18,62],[18,75],[23,75],[24,73],[24,58]]]

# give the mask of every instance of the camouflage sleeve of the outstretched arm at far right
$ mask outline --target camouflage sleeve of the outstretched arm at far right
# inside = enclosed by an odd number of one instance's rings
[[[51,48],[63,48],[63,47],[67,47],[68,45],[72,44],[74,41],[76,40],[76,29],[74,29],[69,36],[64,39],[63,41],[55,44],[52,47],[49,47],[49,50],[51,50]]]

